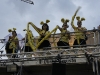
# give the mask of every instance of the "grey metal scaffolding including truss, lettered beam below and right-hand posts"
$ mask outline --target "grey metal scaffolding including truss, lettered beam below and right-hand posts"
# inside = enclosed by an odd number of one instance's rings
[[[93,32],[93,35],[94,35],[93,36],[94,44],[77,45],[77,48],[58,49],[58,47],[48,47],[44,48],[44,50],[36,50],[34,52],[21,52],[13,54],[3,54],[4,50],[0,50],[1,53],[0,64],[1,65],[17,64],[18,66],[21,67],[22,70],[22,65],[45,65],[52,63],[66,63],[66,64],[89,63],[93,64],[93,72],[97,73],[96,75],[99,75],[99,69],[98,69],[98,62],[100,61],[99,33],[98,37],[96,37],[95,32]],[[4,43],[5,39],[0,39],[0,42]],[[52,50],[49,50],[50,48]],[[13,58],[12,56],[14,55],[18,55],[18,58]],[[10,56],[11,58],[2,59],[2,57],[6,56]]]

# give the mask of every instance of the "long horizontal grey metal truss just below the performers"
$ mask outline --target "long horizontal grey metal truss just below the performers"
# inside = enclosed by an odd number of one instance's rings
[[[2,56],[13,56],[18,55],[19,58],[9,58],[9,59],[0,59],[0,63],[9,63],[9,62],[25,62],[25,61],[37,61],[40,60],[58,60],[58,59],[69,59],[69,58],[86,58],[85,53],[92,55],[99,59],[100,57],[100,47],[86,47],[86,48],[74,48],[74,49],[60,49],[60,50],[45,50],[45,51],[36,51],[36,52],[27,52],[27,53],[14,53],[14,54],[1,54]],[[24,57],[28,55],[34,55],[34,57]],[[59,58],[60,56],[60,58]],[[76,62],[77,63],[77,62]]]

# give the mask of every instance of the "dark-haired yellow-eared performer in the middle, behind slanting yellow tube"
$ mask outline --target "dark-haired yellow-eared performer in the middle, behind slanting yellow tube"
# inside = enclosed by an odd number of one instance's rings
[[[50,20],[46,20],[46,23],[44,23],[43,21],[40,22],[40,24],[42,25],[42,29],[41,28],[38,28],[35,26],[35,28],[38,30],[40,36],[39,36],[39,39],[38,39],[38,43],[46,36],[50,33],[49,31],[49,26],[47,23],[49,23]],[[50,37],[50,36],[49,36]],[[38,46],[38,49],[44,49],[45,47],[51,47],[51,44],[49,42],[49,37],[47,37],[39,46]],[[47,49],[47,48],[45,48]],[[50,48],[48,48],[50,49]]]

